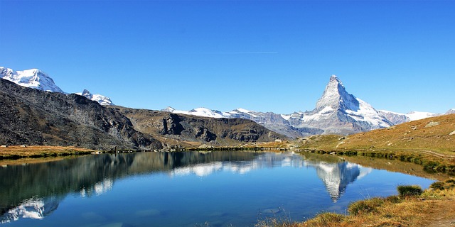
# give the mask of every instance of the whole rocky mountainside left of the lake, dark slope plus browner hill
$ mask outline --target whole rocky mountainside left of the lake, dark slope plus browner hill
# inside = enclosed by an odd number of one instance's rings
[[[43,92],[0,79],[1,145],[75,145],[96,150],[159,149],[284,138],[245,119],[107,108],[77,94]],[[186,141],[186,142],[185,142]]]

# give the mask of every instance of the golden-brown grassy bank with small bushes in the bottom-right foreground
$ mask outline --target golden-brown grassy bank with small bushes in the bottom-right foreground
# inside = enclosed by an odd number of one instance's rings
[[[398,196],[369,198],[348,207],[348,215],[322,213],[302,223],[267,220],[257,226],[451,226],[455,223],[455,180],[419,187],[398,187]]]

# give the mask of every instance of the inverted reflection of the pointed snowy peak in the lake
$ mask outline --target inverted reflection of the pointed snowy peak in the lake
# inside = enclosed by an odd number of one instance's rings
[[[371,172],[365,168],[350,162],[307,162],[307,165],[315,167],[316,173],[326,185],[328,194],[333,202],[336,202],[341,194],[346,191],[348,184],[360,179]]]

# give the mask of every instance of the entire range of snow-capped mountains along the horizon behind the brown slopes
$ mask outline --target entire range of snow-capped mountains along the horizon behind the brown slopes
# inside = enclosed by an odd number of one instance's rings
[[[23,87],[65,94],[62,89],[55,85],[53,79],[41,70],[14,71],[9,68],[0,67],[0,77]],[[101,105],[114,105],[108,97],[100,94],[91,94],[86,89],[76,94],[97,101]],[[376,110],[362,99],[349,94],[343,82],[336,75],[330,77],[326,89],[323,91],[321,98],[316,102],[315,109],[312,111],[275,114],[273,112],[250,111],[241,108],[222,112],[202,107],[192,109],[191,111],[181,111],[168,107],[161,111],[209,118],[248,119],[261,124],[271,131],[287,135],[291,138],[316,134],[348,135],[441,115],[419,111],[400,114],[392,111]],[[455,112],[455,109],[447,111],[447,114],[451,112]]]

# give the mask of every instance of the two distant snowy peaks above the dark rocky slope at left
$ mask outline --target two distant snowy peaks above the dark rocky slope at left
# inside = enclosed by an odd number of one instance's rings
[[[21,85],[22,87],[30,87],[45,92],[58,92],[66,94],[66,92],[63,92],[60,87],[55,85],[55,82],[49,77],[48,74],[38,69],[14,71],[6,67],[0,67],[0,78],[7,79]],[[90,94],[87,90],[76,94],[85,96],[87,99],[97,101],[101,105],[113,105],[111,99],[101,94]]]

